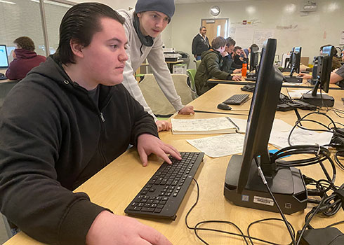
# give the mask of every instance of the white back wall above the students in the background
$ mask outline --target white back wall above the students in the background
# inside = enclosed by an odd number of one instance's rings
[[[340,32],[344,30],[344,1],[317,0],[317,11],[308,16],[300,16],[300,3],[303,1],[262,0],[178,4],[170,24],[171,47],[191,54],[192,38],[199,31],[201,19],[211,18],[209,9],[217,5],[221,9],[218,18],[229,18],[230,23],[256,20],[260,23],[253,28],[274,31],[273,37],[277,38],[277,54],[289,52],[293,46],[302,46],[302,56],[310,57],[311,63],[312,57],[319,54],[321,45],[339,44]],[[336,7],[337,9],[334,9]],[[294,8],[295,11],[289,13],[287,8],[289,10]],[[250,9],[256,9],[256,12],[249,13]]]

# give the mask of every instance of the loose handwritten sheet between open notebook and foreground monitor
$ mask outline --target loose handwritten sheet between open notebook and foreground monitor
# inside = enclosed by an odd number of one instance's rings
[[[223,134],[201,139],[187,139],[187,142],[211,158],[220,158],[242,153],[244,139],[244,134]]]

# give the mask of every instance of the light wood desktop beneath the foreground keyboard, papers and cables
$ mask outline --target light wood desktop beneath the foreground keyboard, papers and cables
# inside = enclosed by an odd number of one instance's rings
[[[227,97],[230,97],[232,94],[240,93],[240,87],[240,85],[217,85],[213,89],[203,94],[201,97],[195,99],[190,104],[193,105],[194,109],[197,110],[220,111],[216,109],[216,105],[220,102],[223,102],[223,100],[227,99]],[[339,99],[342,91],[331,90],[330,94],[336,98],[336,108],[343,110],[343,103]],[[232,106],[233,112],[237,109],[249,109],[249,106],[249,102],[246,102],[241,106]],[[309,111],[300,111],[300,114],[303,116],[308,112]],[[238,113],[247,112],[240,111]],[[336,116],[331,111],[329,112],[329,115],[333,119],[336,119]],[[194,116],[176,115],[176,118],[210,118],[215,116],[217,115],[209,113],[196,113]],[[219,114],[218,116],[222,115]],[[240,118],[245,118],[245,116],[240,116]],[[278,111],[277,118],[285,120],[289,124],[293,124],[296,121],[296,116],[292,111]],[[319,120],[322,119],[320,118]],[[205,137],[204,135],[173,135],[171,132],[161,132],[159,136],[166,143],[178,148],[179,151],[196,151],[195,148],[193,148],[190,144],[187,144],[185,139]],[[208,136],[211,135],[206,135],[206,137]],[[236,207],[225,199],[223,196],[223,186],[225,169],[227,168],[227,162],[229,160],[230,157],[205,157],[205,162],[201,164],[199,172],[195,176],[200,188],[199,203],[189,216],[190,225],[194,226],[199,221],[204,220],[226,220],[237,224],[239,228],[241,228],[246,234],[247,226],[253,221],[257,221],[262,218],[280,218],[279,214],[272,212]],[[159,168],[161,162],[162,160],[153,156],[150,158],[149,165],[147,167],[142,167],[138,153],[135,151],[135,149],[131,149],[126,151],[126,153],[117,158],[117,160],[114,160],[110,165],[98,172],[98,174],[95,174],[95,176],[77,188],[76,191],[84,191],[91,197],[92,202],[111,209],[115,214],[124,215],[124,209],[126,206],[129,204],[129,202],[131,202],[131,200],[133,200],[133,197],[135,197],[135,195],[150,179],[152,174],[154,174],[154,172]],[[326,163],[326,167],[328,166],[329,164]],[[314,179],[324,179],[322,170],[317,165],[303,167],[302,171],[303,174],[306,174]],[[343,182],[344,172],[338,169],[336,184],[340,185]],[[185,196],[185,199],[180,206],[180,209],[178,210],[176,221],[161,221],[155,219],[148,220],[141,218],[138,220],[159,230],[159,232],[163,233],[174,245],[201,244],[201,242],[194,235],[194,232],[192,230],[187,230],[185,227],[185,215],[190,207],[192,207],[192,204],[194,204],[196,195],[197,189],[194,183],[192,183],[187,195]],[[310,211],[311,208],[312,205],[309,204],[305,212],[286,215],[286,218],[293,225],[296,231],[302,228],[305,214]],[[315,217],[312,221],[312,225],[315,228],[322,228],[331,223],[343,221],[343,219],[344,212],[343,210],[340,210],[338,211],[338,214],[331,218]],[[254,226],[251,230],[251,235],[254,237],[260,237],[262,239],[268,239],[269,241],[274,241],[279,244],[287,244],[290,239],[284,223],[273,223],[273,230],[271,224],[272,223],[266,223]],[[237,230],[229,225],[214,224],[204,227],[237,232]],[[343,225],[338,226],[338,228],[344,232]],[[209,244],[244,244],[242,239],[221,235],[218,233],[199,232],[199,235],[206,239]],[[27,235],[25,235],[23,232],[20,232],[20,234],[15,235],[15,237],[6,242],[6,245],[38,244],[41,243],[27,237]]]

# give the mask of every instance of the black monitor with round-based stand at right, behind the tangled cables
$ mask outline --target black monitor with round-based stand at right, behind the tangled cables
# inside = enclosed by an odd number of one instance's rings
[[[334,46],[329,45],[322,48],[322,52],[314,59],[312,81],[315,83],[312,93],[303,94],[303,100],[315,106],[333,106],[334,98],[327,94],[317,94],[318,89],[329,92],[332,58]]]

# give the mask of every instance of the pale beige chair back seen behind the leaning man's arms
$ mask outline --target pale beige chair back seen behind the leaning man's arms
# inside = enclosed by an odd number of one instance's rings
[[[193,91],[187,85],[187,75],[185,74],[171,74],[176,91],[182,99],[182,104],[192,102]],[[156,116],[171,116],[176,110],[173,108],[164,93],[161,91],[153,74],[145,74],[145,78],[138,84],[143,93],[143,97],[152,109]]]

